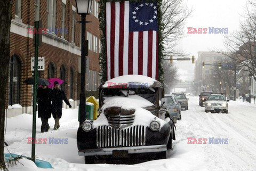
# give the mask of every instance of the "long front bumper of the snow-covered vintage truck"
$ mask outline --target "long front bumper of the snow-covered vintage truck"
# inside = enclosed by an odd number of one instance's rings
[[[166,151],[166,145],[148,145],[148,146],[127,146],[118,148],[101,148],[101,149],[86,149],[79,150],[79,156],[105,156],[112,155],[113,151],[127,151],[128,154],[134,153],[149,153]]]

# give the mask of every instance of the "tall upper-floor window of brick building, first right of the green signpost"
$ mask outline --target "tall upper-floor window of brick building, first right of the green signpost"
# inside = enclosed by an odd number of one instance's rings
[[[47,0],[47,29],[55,30],[56,23],[56,0]]]

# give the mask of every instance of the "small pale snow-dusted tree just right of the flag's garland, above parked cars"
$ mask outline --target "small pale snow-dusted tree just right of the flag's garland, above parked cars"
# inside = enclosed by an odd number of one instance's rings
[[[179,80],[178,69],[169,61],[164,61],[164,89],[165,93],[169,94],[174,82]]]

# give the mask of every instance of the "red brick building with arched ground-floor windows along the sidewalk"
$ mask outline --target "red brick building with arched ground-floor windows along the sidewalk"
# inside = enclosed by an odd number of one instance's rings
[[[89,71],[86,73],[86,96],[97,96],[99,85],[99,5],[93,0],[91,14],[86,20],[86,39],[89,40]],[[10,74],[7,85],[7,116],[31,113],[33,88],[24,84],[26,78],[33,76],[31,58],[35,54],[33,34],[28,28],[34,21],[42,20],[42,46],[38,56],[44,57],[44,70],[38,71],[38,77],[58,77],[65,80],[61,89],[68,99],[73,99],[73,108],[79,104],[81,65],[81,21],[77,14],[75,0],[15,0],[12,5],[12,23],[10,35]],[[65,30],[65,31],[64,31]],[[15,108],[13,104],[19,104]],[[17,106],[17,105],[16,105]],[[14,108],[13,108],[14,107]]]

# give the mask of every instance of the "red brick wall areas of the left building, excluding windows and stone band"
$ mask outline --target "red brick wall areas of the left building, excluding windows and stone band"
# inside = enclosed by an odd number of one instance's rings
[[[35,1],[33,0],[22,0],[22,10],[21,10],[21,19],[22,22],[26,25],[34,25],[35,20]],[[61,0],[57,0],[57,7],[56,7],[56,28],[61,28]],[[66,9],[65,9],[65,28],[68,28],[68,34],[65,34],[65,40],[67,43],[71,43],[71,34],[72,34],[72,5],[76,7],[75,0],[67,1]],[[41,0],[40,1],[40,17],[39,19],[42,20],[42,27],[46,28],[47,26],[47,1]],[[12,18],[15,18],[15,0],[13,1],[12,5]],[[81,21],[80,15],[77,14],[76,11],[76,21]],[[86,16],[86,21],[92,21],[91,23],[86,23],[86,30],[90,31],[93,35],[97,35],[100,38],[100,30],[99,30],[99,21],[97,18],[93,16],[93,14]],[[81,37],[81,23],[75,23],[75,45],[79,47],[80,45],[80,37]],[[57,34],[59,38],[61,38],[61,34]],[[71,45],[74,47],[74,45]],[[98,45],[99,47],[99,45]],[[31,71],[31,57],[34,56],[34,45],[33,39],[23,37],[11,32],[10,36],[10,56],[13,54],[17,54],[20,56],[21,59],[21,82],[20,82],[20,104],[22,107],[30,106],[31,105],[31,85],[26,85],[23,81],[26,78],[32,76]],[[78,74],[78,57],[80,55],[76,55],[70,53],[66,50],[62,50],[61,48],[54,47],[52,45],[42,43],[42,46],[39,47],[38,56],[45,57],[45,71],[41,71],[41,77],[47,78],[47,69],[50,62],[53,62],[55,65],[55,72],[54,76],[60,76],[60,67],[63,64],[66,68],[66,82],[70,84],[70,67],[74,69],[74,84],[73,84],[73,96],[74,100],[79,99],[79,92],[80,92],[80,81],[81,81],[81,74]],[[100,70],[99,66],[99,54],[89,51],[89,58],[90,58],[90,69],[91,70]],[[69,86],[66,85],[65,92],[69,99],[70,89]],[[9,88],[7,88],[9,90]],[[8,92],[9,93],[9,92]],[[8,96],[7,96],[8,98]],[[6,100],[9,102],[9,99]]]

